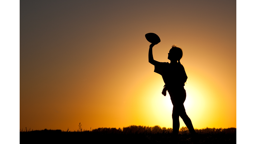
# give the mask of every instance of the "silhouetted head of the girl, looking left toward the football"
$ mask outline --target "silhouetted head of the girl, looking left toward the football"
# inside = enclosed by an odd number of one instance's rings
[[[182,58],[182,50],[179,47],[176,47],[176,45],[173,45],[168,53],[168,59],[172,61],[175,61],[180,63],[180,59]]]

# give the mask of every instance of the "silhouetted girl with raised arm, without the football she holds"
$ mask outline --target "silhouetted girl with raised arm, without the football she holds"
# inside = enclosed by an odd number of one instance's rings
[[[155,66],[154,72],[160,74],[164,80],[164,89],[162,94],[166,96],[166,91],[170,94],[173,104],[172,121],[173,121],[173,133],[178,134],[180,129],[179,116],[186,124],[191,134],[196,134],[192,122],[186,114],[183,103],[186,99],[186,90],[184,89],[185,82],[187,81],[187,75],[183,65],[180,63],[182,58],[182,50],[175,45],[172,46],[168,53],[168,62],[158,62],[153,58],[152,48],[155,44],[149,46],[148,61]]]

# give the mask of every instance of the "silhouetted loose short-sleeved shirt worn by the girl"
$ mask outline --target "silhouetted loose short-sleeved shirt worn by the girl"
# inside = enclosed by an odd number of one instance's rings
[[[167,89],[184,89],[188,78],[183,65],[179,63],[157,62],[154,72],[163,77]]]

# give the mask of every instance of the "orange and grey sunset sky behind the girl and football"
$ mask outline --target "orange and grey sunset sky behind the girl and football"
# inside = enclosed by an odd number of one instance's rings
[[[187,0],[20,1],[20,128],[171,128],[149,32],[183,50],[194,127],[236,127],[236,1]]]

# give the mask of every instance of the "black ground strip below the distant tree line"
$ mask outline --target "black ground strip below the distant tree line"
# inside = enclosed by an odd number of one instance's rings
[[[41,130],[20,132],[20,143],[175,143],[175,144],[235,144],[236,132],[201,133],[192,136],[189,132],[171,133],[110,133],[110,132],[62,132]]]

